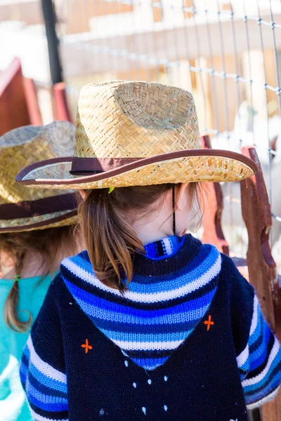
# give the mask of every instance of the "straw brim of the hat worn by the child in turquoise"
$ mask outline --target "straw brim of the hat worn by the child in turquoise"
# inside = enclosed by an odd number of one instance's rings
[[[76,225],[77,222],[77,209],[39,215],[32,218],[0,220],[0,234],[5,232],[25,232],[34,231],[34,229],[65,227],[66,225]]]

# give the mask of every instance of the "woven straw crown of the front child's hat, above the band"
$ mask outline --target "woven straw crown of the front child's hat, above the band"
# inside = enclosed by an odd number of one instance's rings
[[[84,86],[75,138],[80,158],[146,158],[201,148],[191,93],[152,82]]]

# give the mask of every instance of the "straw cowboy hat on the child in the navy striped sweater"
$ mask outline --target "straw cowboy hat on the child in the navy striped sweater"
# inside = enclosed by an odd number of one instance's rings
[[[17,180],[48,189],[99,189],[166,182],[237,181],[256,164],[235,152],[202,149],[191,93],[140,81],[82,88],[74,156],[28,166]]]

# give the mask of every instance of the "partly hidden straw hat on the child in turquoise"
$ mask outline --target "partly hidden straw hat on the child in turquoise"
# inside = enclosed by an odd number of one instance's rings
[[[77,222],[74,192],[27,189],[15,182],[15,175],[23,166],[39,159],[70,155],[73,147],[74,126],[67,121],[15,128],[1,136],[0,233]]]

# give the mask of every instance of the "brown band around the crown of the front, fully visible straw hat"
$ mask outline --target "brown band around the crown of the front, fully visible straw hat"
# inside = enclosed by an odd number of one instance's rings
[[[114,170],[141,158],[72,158],[72,175],[89,175]]]

